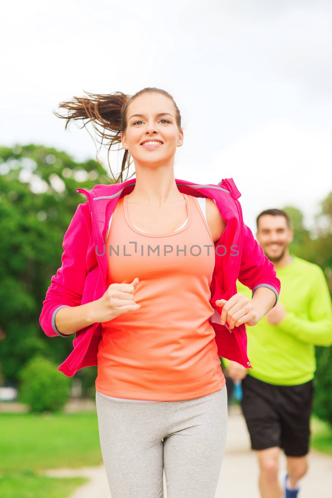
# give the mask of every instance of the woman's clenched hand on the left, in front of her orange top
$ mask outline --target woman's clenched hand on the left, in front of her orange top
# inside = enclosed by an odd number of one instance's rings
[[[94,301],[94,321],[108,322],[122,313],[138,310],[141,306],[132,294],[138,281],[136,277],[131,283],[111,283],[105,294]]]

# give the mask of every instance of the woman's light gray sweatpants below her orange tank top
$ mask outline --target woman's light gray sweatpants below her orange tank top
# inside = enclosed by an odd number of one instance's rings
[[[227,391],[181,401],[120,401],[96,391],[112,498],[215,498],[227,432]]]

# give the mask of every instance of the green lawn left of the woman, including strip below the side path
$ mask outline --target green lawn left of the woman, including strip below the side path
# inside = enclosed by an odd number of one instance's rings
[[[39,475],[103,463],[97,412],[0,413],[0,497],[66,498],[84,477]]]

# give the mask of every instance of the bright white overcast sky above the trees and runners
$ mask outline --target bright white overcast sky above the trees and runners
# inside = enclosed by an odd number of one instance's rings
[[[182,114],[175,177],[232,177],[254,233],[260,211],[286,204],[310,228],[332,191],[329,1],[20,0],[2,7],[0,43],[1,145],[95,157],[88,132],[52,110],[155,86]]]

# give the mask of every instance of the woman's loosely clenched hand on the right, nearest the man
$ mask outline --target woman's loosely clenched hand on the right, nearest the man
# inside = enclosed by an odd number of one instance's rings
[[[241,323],[252,327],[261,319],[252,301],[240,292],[234,294],[228,301],[217,299],[216,304],[217,306],[222,306],[221,325],[224,325],[227,321],[230,329],[238,327]]]

